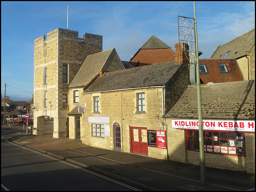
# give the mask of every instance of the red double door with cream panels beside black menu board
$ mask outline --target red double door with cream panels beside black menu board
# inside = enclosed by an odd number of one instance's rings
[[[148,129],[146,127],[130,127],[132,153],[148,155]]]

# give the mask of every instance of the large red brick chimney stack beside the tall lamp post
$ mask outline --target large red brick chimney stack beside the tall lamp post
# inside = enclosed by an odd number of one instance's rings
[[[185,47],[186,51],[182,51],[182,45]],[[187,57],[185,54],[187,55]],[[175,44],[175,63],[184,63],[184,64],[190,63],[188,54],[189,54],[189,46],[187,43]]]

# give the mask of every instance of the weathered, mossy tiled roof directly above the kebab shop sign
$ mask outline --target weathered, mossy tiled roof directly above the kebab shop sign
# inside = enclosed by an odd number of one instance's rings
[[[255,82],[235,81],[201,85],[202,118],[255,120]],[[166,118],[198,119],[197,86],[189,85]]]

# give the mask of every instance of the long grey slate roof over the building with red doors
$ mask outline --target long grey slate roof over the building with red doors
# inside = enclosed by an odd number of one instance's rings
[[[164,86],[181,66],[182,64],[175,64],[175,61],[169,61],[115,72],[107,72],[85,90],[84,94]]]

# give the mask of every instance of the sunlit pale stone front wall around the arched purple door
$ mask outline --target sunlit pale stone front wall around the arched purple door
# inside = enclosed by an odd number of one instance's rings
[[[136,112],[136,93],[145,92],[146,112]],[[122,152],[130,153],[130,126],[147,127],[162,130],[162,88],[141,90],[124,90],[105,93],[85,94],[84,114],[81,118],[81,140],[84,144],[103,149],[114,150],[114,123],[119,123],[122,131]],[[71,93],[70,93],[71,94]],[[100,113],[93,112],[93,96],[100,97]],[[92,137],[92,123],[88,117],[109,117],[110,136],[105,138]],[[72,133],[72,132],[70,132]],[[149,157],[167,158],[167,150],[148,147]]]

